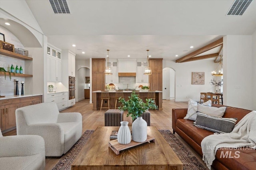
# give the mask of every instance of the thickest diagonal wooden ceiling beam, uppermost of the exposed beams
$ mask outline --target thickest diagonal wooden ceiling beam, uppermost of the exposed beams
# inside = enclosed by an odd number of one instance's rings
[[[213,49],[215,47],[218,47],[223,44],[223,38],[218,39],[217,41],[214,41],[213,43],[210,43],[188,55],[185,55],[184,57],[181,57],[180,59],[176,60],[176,63],[182,63],[182,61],[188,60],[192,57],[195,57],[196,55],[199,55],[201,53],[204,53],[210,49]]]

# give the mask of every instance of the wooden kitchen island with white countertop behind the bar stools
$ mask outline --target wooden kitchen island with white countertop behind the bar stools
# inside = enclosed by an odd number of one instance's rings
[[[131,95],[132,91],[124,90],[124,98],[127,101],[129,96]],[[100,110],[101,104],[101,91],[97,90],[92,92],[93,98],[93,110]],[[115,109],[116,104],[116,90],[109,90],[110,96],[110,109]],[[140,98],[143,102],[146,102],[146,98],[148,96],[148,90],[140,90]],[[107,100],[106,100],[107,101]],[[162,91],[156,90],[156,105],[158,106],[159,110],[162,110]],[[117,103],[117,106],[120,106],[120,103]],[[103,107],[108,107],[108,104],[104,101]],[[106,108],[104,108],[106,109]]]

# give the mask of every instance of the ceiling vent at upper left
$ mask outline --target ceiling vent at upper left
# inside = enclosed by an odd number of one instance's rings
[[[66,0],[49,0],[54,14],[70,14]]]

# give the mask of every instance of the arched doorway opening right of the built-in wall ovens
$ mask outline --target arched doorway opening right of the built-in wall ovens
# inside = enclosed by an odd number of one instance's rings
[[[76,96],[77,101],[84,100],[84,93],[90,89],[90,68],[82,66],[77,70],[76,76]],[[90,93],[90,92],[89,92]]]

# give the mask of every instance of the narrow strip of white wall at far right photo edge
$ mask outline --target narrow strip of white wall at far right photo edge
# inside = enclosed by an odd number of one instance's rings
[[[256,110],[256,31],[252,35],[252,110]]]

